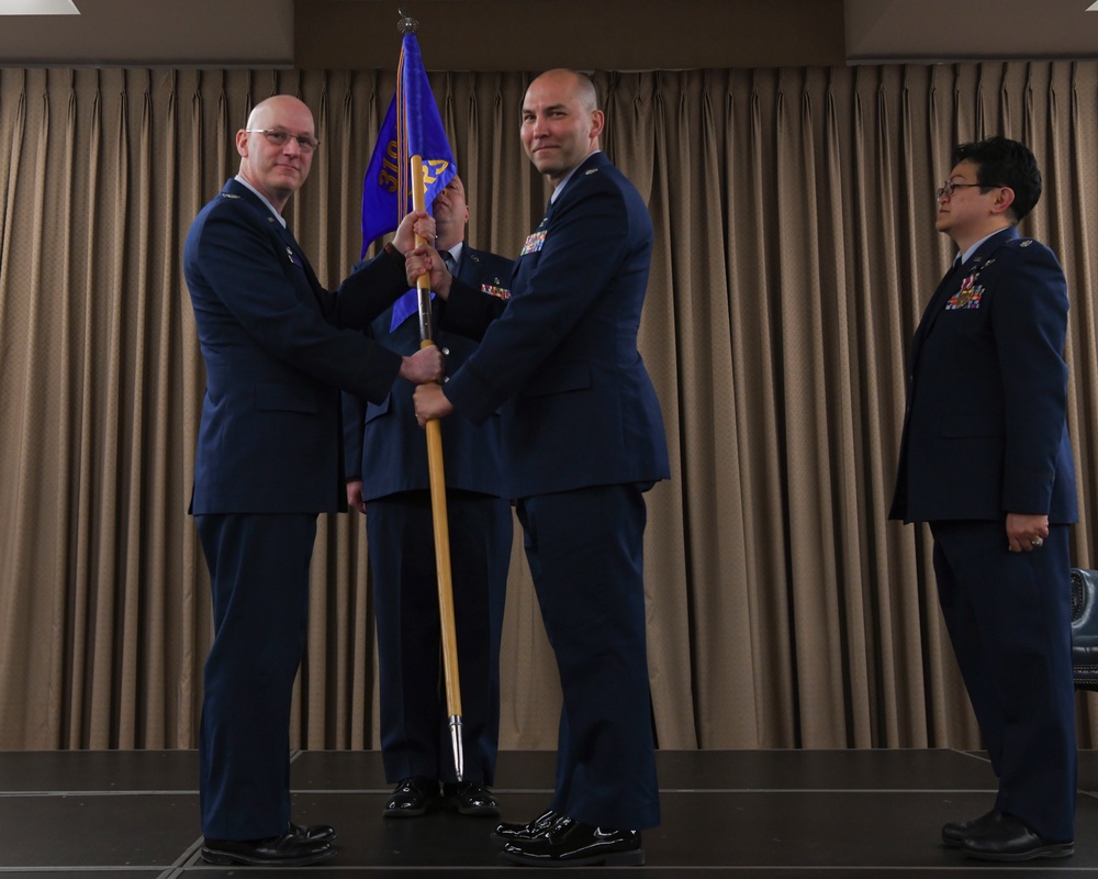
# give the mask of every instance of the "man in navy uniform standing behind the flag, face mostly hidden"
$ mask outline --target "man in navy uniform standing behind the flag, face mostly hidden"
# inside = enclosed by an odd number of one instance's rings
[[[511,260],[464,243],[469,209],[459,177],[450,179],[432,209],[435,244],[447,252],[457,277],[483,294],[506,296]],[[436,312],[440,307],[445,303],[433,303]],[[418,351],[416,291],[378,318],[370,336],[397,354]],[[436,333],[435,341],[448,352],[450,370],[477,349],[475,342],[451,333]],[[366,513],[373,571],[381,754],[385,779],[396,783],[386,817],[413,817],[439,804],[466,815],[500,814],[489,786],[500,738],[500,638],[513,541],[511,502],[500,498],[500,419],[492,415],[481,425],[448,419],[441,432],[462,696],[461,782],[439,688],[427,445],[416,426],[412,387],[394,386],[380,403],[344,394],[347,501]]]

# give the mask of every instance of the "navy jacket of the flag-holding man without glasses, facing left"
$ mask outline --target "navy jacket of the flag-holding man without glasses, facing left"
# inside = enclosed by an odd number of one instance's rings
[[[648,208],[598,152],[527,241],[509,300],[452,285],[445,325],[479,334],[500,319],[491,346],[445,390],[477,423],[502,411],[507,496],[670,477],[660,403],[637,351],[650,257]]]

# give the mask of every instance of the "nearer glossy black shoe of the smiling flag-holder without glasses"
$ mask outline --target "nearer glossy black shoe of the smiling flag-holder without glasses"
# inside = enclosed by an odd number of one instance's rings
[[[593,827],[562,816],[538,836],[507,843],[500,857],[528,867],[639,867],[645,863],[645,849],[639,831]]]

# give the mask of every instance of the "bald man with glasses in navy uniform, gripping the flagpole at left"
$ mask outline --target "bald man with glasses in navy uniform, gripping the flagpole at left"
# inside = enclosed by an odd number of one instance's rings
[[[290,96],[257,104],[236,134],[237,176],[195,218],[183,247],[206,391],[191,513],[213,598],[199,769],[202,857],[294,866],[335,853],[327,825],[290,821],[290,705],[305,646],[320,513],[346,510],[340,389],[374,402],[397,377],[442,376],[429,347],[401,356],[362,330],[404,283],[410,214],[390,258],[321,287],[282,218],[318,144]]]

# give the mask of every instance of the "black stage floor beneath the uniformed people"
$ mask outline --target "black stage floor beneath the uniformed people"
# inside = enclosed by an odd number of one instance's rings
[[[504,819],[548,803],[553,754],[500,755]],[[1098,877],[1098,752],[1079,758],[1076,854],[989,865],[938,843],[944,821],[990,808],[982,754],[953,750],[661,752],[663,824],[645,833],[647,866],[569,876],[645,879],[839,879],[934,876]],[[199,858],[193,752],[0,753],[0,879],[200,879],[270,870]],[[376,752],[302,752],[294,821],[330,823],[339,854],[277,870],[296,879],[529,877],[498,860],[494,822],[428,813],[385,820],[390,786]],[[537,870],[533,871],[537,874]]]

